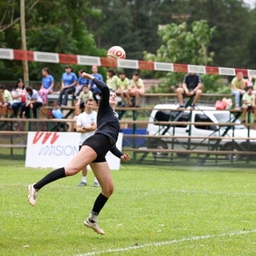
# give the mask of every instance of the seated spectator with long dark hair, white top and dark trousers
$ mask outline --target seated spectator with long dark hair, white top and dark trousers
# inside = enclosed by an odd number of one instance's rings
[[[26,88],[21,78],[18,79],[14,89],[11,91],[11,95],[14,99],[11,108],[14,111],[14,118],[18,116],[18,110],[21,109],[20,118],[26,105]]]

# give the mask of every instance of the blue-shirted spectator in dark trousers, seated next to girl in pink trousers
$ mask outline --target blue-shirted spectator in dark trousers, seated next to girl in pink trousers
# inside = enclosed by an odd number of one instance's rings
[[[71,66],[66,66],[66,72],[62,74],[62,90],[58,97],[58,106],[66,106],[69,94],[74,94],[75,86],[78,82],[78,78],[74,72],[72,72]],[[62,102],[62,97],[63,102]]]

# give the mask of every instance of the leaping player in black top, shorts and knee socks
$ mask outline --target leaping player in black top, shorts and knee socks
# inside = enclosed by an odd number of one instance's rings
[[[91,228],[98,234],[105,234],[105,232],[98,226],[98,214],[105,206],[114,190],[114,182],[111,177],[110,167],[106,162],[106,153],[110,150],[115,156],[121,158],[123,161],[130,160],[129,154],[123,154],[116,147],[118,140],[118,133],[120,130],[117,115],[114,108],[117,104],[117,95],[110,92],[105,82],[99,81],[90,74],[83,73],[83,78],[93,80],[94,84],[102,91],[102,98],[99,103],[97,114],[97,127],[94,135],[86,139],[82,143],[82,148],[74,156],[74,158],[65,167],[59,168],[47,174],[39,182],[30,184],[28,186],[28,201],[31,206],[34,206],[38,196],[38,191],[43,186],[50,182],[54,182],[59,178],[65,178],[74,174],[78,174],[83,166],[90,164],[95,177],[102,188],[102,192],[98,194],[94,202],[94,206],[86,218],[84,225]]]

